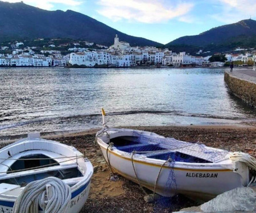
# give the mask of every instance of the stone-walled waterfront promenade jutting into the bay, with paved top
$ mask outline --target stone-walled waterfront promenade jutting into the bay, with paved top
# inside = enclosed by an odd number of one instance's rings
[[[252,107],[256,107],[256,71],[253,69],[226,70],[224,80],[230,91]]]

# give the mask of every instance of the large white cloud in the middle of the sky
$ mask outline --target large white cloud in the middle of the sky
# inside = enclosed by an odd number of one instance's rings
[[[192,3],[163,0],[98,0],[98,13],[118,21],[126,19],[142,23],[160,23],[188,14]],[[181,19],[182,21],[183,19]]]

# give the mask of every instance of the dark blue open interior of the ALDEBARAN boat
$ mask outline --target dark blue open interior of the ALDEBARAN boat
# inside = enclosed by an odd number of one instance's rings
[[[148,158],[158,160],[168,160],[168,158],[172,158],[172,160],[179,162],[212,163],[212,161],[204,160],[189,154],[171,151],[170,148],[163,148],[160,143],[145,143],[145,141],[140,141],[137,136],[114,137],[113,139],[110,139],[110,142],[112,142],[114,147],[120,151],[127,153],[131,153],[133,151],[142,152],[138,154],[143,154]]]

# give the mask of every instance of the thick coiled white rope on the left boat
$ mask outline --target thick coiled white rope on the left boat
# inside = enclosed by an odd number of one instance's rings
[[[44,213],[65,213],[70,200],[71,187],[59,178],[48,177],[28,183],[14,203],[13,213],[38,213],[39,206]]]

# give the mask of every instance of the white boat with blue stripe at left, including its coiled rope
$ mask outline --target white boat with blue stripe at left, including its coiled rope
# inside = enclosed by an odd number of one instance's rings
[[[93,166],[76,148],[28,135],[0,149],[0,211],[79,212]]]

